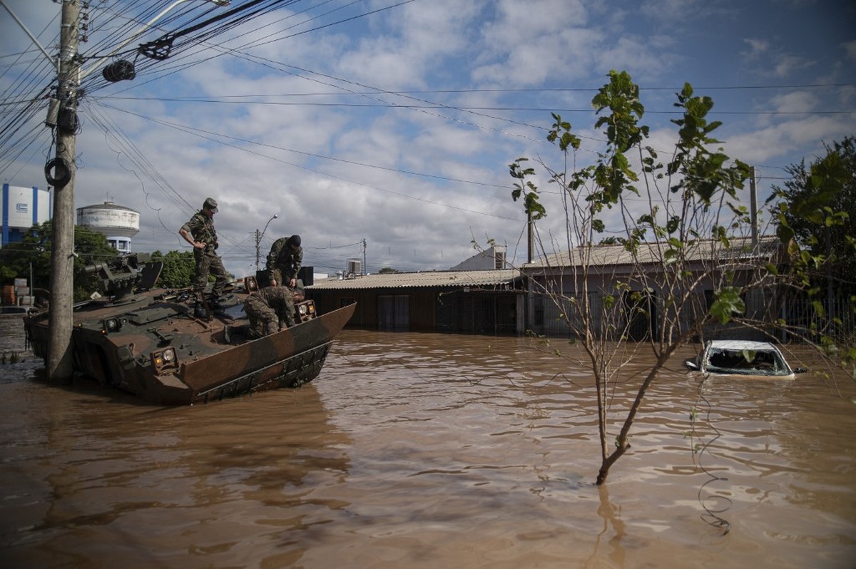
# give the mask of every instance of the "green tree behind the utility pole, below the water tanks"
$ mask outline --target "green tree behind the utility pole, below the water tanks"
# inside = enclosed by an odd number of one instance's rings
[[[33,274],[33,288],[50,288],[51,279],[51,222],[37,223],[24,238],[0,250],[3,265],[3,283],[15,278],[29,279]],[[74,300],[89,298],[97,289],[97,276],[86,275],[86,265],[104,263],[119,254],[110,246],[104,235],[89,228],[74,227]]]

